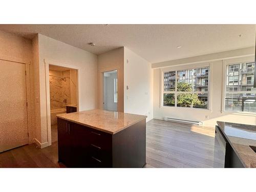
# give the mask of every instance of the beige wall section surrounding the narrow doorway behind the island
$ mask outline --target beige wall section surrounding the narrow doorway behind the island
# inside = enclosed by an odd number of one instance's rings
[[[123,62],[123,47],[98,55],[98,109],[103,109],[103,72],[118,69],[118,111],[123,112]]]

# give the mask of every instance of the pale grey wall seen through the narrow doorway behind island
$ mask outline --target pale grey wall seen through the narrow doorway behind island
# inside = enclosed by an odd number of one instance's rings
[[[114,102],[114,79],[117,78],[117,72],[108,74],[104,76],[104,109],[117,111],[117,102]]]

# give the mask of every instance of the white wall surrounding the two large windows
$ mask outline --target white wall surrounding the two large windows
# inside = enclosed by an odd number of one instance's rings
[[[236,54],[238,55],[249,55],[254,53],[253,48],[248,48],[242,50],[234,50],[233,52],[229,52],[229,56]],[[240,52],[240,54],[238,54]],[[226,52],[225,52],[226,54]],[[218,54],[218,57],[223,59],[225,54]],[[208,56],[198,57],[198,61],[208,59]],[[230,58],[230,57],[228,57]],[[256,116],[255,115],[244,115],[244,114],[234,114],[222,112],[222,80],[223,80],[223,61],[221,59],[214,58],[214,61],[210,61],[211,63],[211,110],[201,110],[201,109],[184,109],[184,108],[175,108],[170,106],[160,106],[160,69],[154,70],[154,118],[163,119],[165,116],[179,119],[188,119],[188,120],[197,120],[203,121],[205,126],[214,127],[216,125],[216,121],[229,121],[236,123],[245,123],[256,125]],[[179,65],[177,63],[181,63],[184,65],[184,61],[188,63],[196,62],[196,58],[193,59],[181,59],[180,62],[175,60],[163,62],[163,67],[167,67],[166,63],[169,63],[169,66],[175,66],[177,68]],[[209,63],[209,62],[208,62]],[[193,64],[195,65],[195,63]],[[160,65],[155,65],[155,67],[160,67]],[[182,66],[180,67],[182,68]],[[209,119],[206,119],[206,115],[209,116]]]

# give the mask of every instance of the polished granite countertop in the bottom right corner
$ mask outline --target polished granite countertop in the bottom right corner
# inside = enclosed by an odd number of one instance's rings
[[[217,121],[234,152],[245,167],[256,167],[256,153],[249,145],[256,146],[256,126]]]

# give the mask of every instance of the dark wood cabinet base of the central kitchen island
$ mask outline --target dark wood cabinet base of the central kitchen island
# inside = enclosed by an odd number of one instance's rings
[[[145,119],[109,134],[58,118],[59,162],[67,167],[143,167]]]

